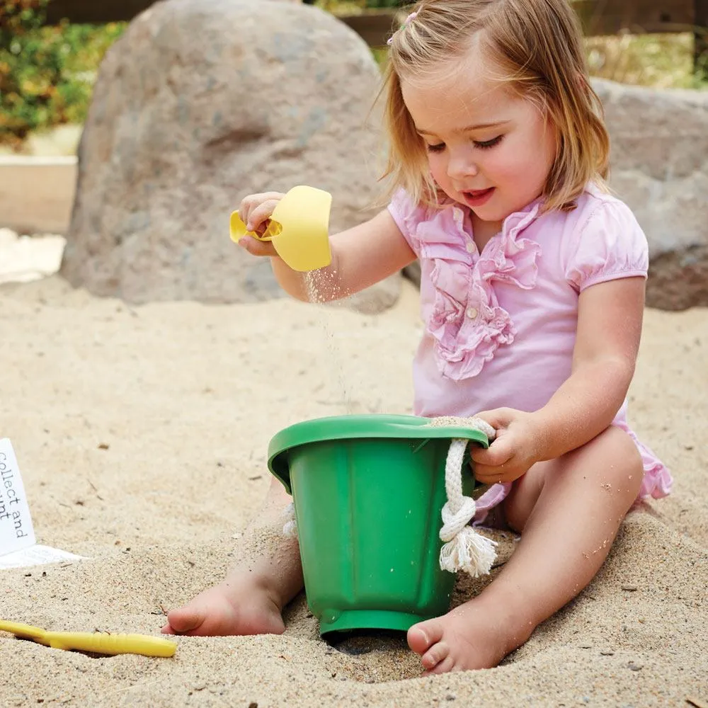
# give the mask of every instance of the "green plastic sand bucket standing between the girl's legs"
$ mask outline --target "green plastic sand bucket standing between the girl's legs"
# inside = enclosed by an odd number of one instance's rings
[[[268,467],[295,502],[321,634],[405,631],[447,612],[455,576],[440,569],[438,533],[452,438],[489,445],[480,430],[386,415],[305,421],[270,440]],[[463,477],[469,495],[474,478]]]

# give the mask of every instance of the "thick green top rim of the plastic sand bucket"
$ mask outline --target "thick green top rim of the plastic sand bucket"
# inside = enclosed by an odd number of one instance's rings
[[[347,416],[326,416],[300,421],[273,435],[268,444],[268,469],[287,490],[290,470],[287,452],[312,442],[332,440],[365,440],[392,438],[397,440],[433,440],[463,438],[480,447],[489,447],[489,439],[477,428],[464,426],[431,426],[432,418],[389,413],[361,413]]]

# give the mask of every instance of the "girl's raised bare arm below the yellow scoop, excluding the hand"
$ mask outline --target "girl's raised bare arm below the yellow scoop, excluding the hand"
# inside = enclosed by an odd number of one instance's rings
[[[258,243],[249,240],[254,246]],[[347,297],[397,273],[416,258],[388,210],[331,236],[329,242],[332,263],[312,272],[309,287],[306,273],[291,270],[278,256],[271,257],[275,278],[288,295],[317,302]]]

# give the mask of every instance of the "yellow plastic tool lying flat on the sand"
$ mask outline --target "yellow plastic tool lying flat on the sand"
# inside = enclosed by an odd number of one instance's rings
[[[46,632],[40,627],[0,619],[0,630],[20,639],[32,639],[52,649],[91,651],[98,654],[142,654],[173,656],[177,644],[149,634],[103,634],[102,632]]]

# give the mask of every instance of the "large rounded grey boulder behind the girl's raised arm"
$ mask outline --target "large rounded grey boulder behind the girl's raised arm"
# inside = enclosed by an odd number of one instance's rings
[[[268,259],[229,240],[229,212],[309,184],[333,194],[333,231],[370,217],[379,83],[365,43],[317,8],[156,3],[101,64],[62,275],[130,302],[282,297]],[[398,292],[391,278],[355,304],[374,312]]]

